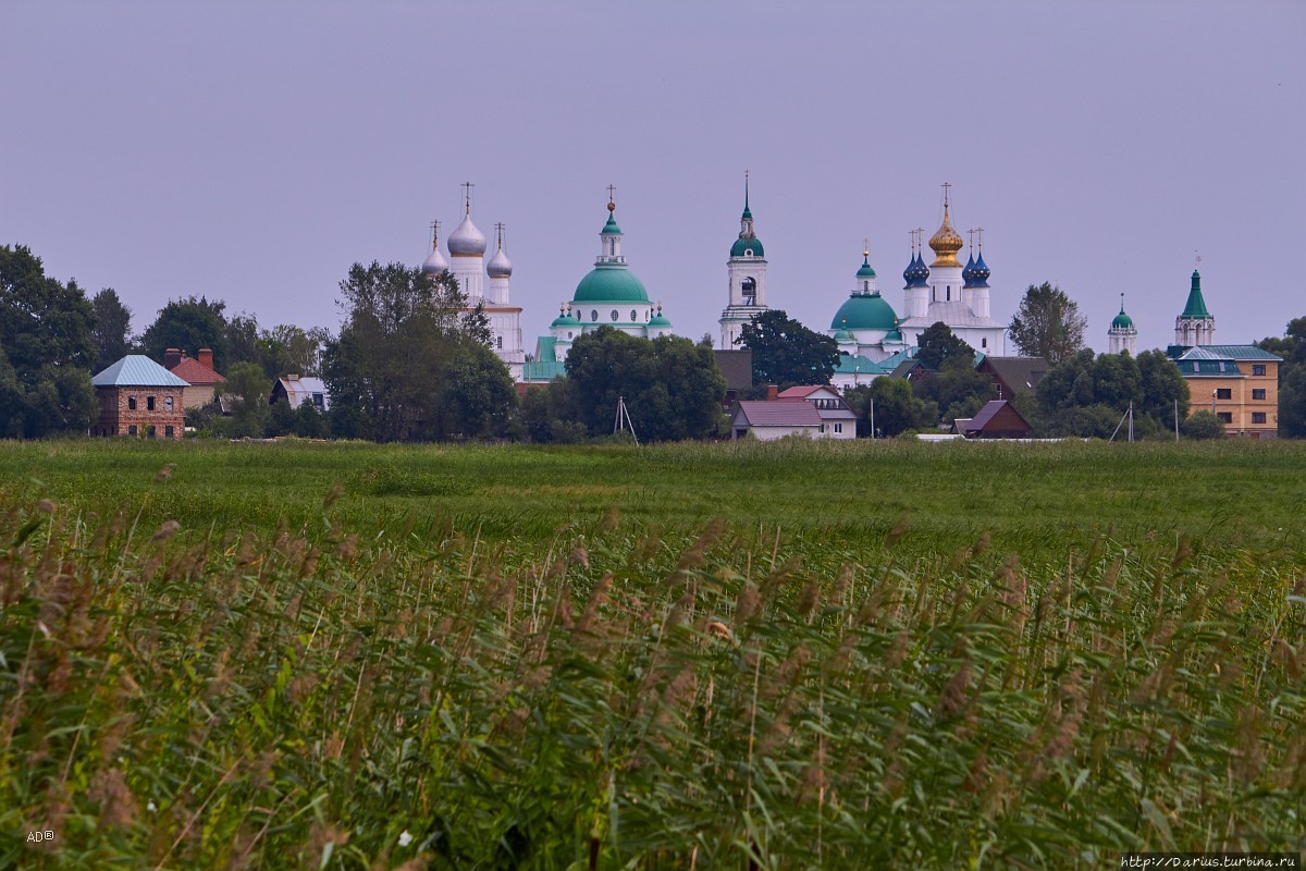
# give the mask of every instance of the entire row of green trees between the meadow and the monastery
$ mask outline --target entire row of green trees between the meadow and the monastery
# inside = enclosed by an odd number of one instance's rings
[[[138,336],[132,312],[106,287],[93,296],[76,281],[46,276],[22,245],[0,245],[0,437],[85,434],[95,413],[90,373],[124,354],[162,360],[167,349],[213,350],[226,373],[226,407],[188,410],[187,424],[215,436],[441,441],[515,439],[539,443],[610,436],[618,398],[643,440],[704,439],[725,431],[725,381],[709,337],[641,340],[611,328],[584,333],[567,356],[567,377],[532,387],[518,400],[507,367],[490,349],[485,312],[469,307],[449,274],[426,276],[402,264],[354,264],[340,282],[343,320],[337,334],[229,313],[222,300],[170,300]],[[1188,411],[1188,390],[1162,351],[1094,354],[1084,346],[1077,304],[1051,285],[1030,286],[1008,334],[1023,355],[1051,364],[1037,390],[1012,398],[1040,436],[1106,437],[1132,404],[1135,432],[1171,434],[1178,414],[1190,437],[1222,424]],[[743,329],[752,351],[752,393],[765,385],[828,384],[838,363],[835,341],[790,319],[763,313]],[[1306,317],[1285,336],[1258,342],[1284,356],[1280,431],[1306,437]],[[976,353],[944,324],[918,340],[913,377],[875,379],[846,398],[859,431],[893,436],[947,427],[995,398],[976,371]],[[269,404],[286,375],[320,376],[330,410]],[[874,409],[874,413],[872,413]]]

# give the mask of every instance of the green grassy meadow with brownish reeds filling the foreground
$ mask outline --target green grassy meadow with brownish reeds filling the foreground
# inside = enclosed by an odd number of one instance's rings
[[[1289,443],[0,443],[0,866],[1302,850],[1303,473]]]

